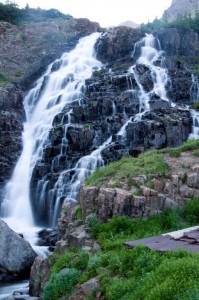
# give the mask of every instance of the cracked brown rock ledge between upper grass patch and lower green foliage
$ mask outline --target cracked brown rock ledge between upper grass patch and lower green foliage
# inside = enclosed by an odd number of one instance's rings
[[[120,188],[112,187],[115,178],[103,183],[101,187],[82,186],[78,201],[83,220],[88,218],[91,211],[102,222],[121,215],[132,218],[148,217],[162,212],[167,207],[182,207],[189,199],[198,198],[197,157],[190,153],[182,153],[180,158],[165,155],[165,161],[171,170],[167,178],[150,174],[133,177],[132,182],[135,185],[125,184],[124,180]]]

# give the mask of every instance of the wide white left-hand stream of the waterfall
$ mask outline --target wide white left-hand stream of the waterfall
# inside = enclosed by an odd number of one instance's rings
[[[24,232],[24,229],[27,229],[30,232],[30,228],[34,227],[30,202],[33,169],[36,162],[42,158],[44,146],[48,144],[48,135],[54,117],[62,112],[66,105],[81,103],[85,79],[91,76],[94,69],[101,67],[101,63],[94,57],[93,50],[99,36],[99,33],[94,33],[80,39],[74,50],[64,53],[48,67],[46,73],[24,99],[26,122],[23,132],[23,150],[12,178],[5,187],[6,196],[1,208],[2,217],[15,231]],[[69,109],[68,123],[70,123],[70,114]],[[63,138],[62,152],[66,144],[67,141]],[[41,202],[47,184],[45,179],[39,183]]]

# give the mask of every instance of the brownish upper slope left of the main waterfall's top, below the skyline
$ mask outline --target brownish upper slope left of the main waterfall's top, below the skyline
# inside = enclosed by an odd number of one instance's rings
[[[99,24],[88,19],[57,19],[20,26],[0,22],[1,72],[17,82],[25,75],[22,85],[29,88],[49,63],[71,50],[80,37],[98,30]],[[32,74],[32,80],[27,79],[27,73],[28,77]]]

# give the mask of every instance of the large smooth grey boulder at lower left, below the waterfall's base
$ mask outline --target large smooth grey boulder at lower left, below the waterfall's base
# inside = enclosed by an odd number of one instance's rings
[[[0,280],[28,276],[37,256],[30,244],[2,220],[0,220],[0,239]]]

